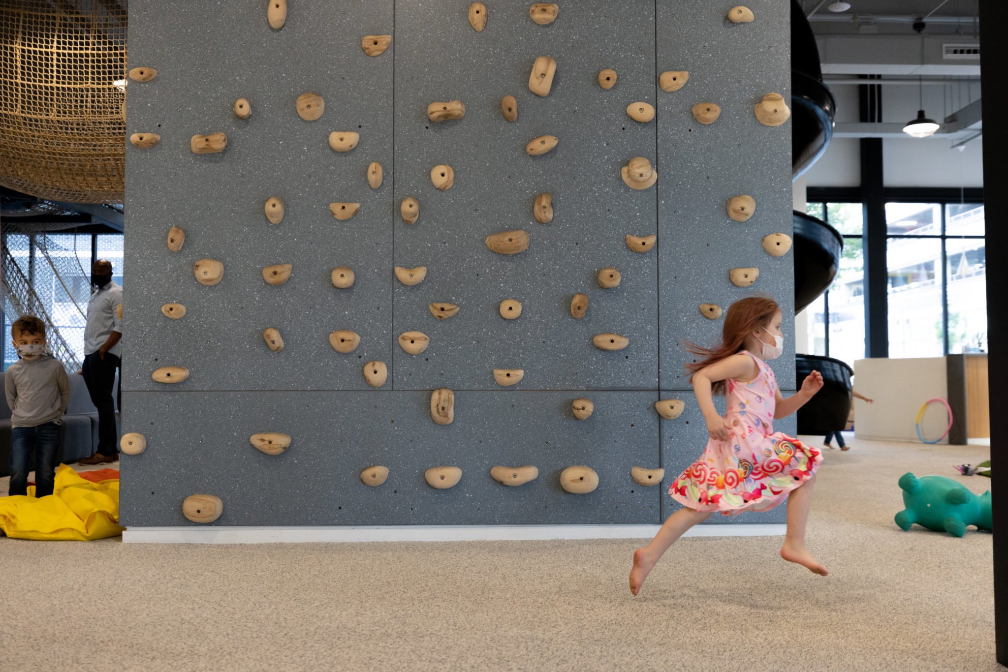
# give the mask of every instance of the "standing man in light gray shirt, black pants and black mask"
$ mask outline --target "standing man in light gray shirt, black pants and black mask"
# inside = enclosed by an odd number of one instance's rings
[[[99,259],[92,265],[91,282],[98,291],[88,301],[81,374],[88,384],[91,402],[98,409],[98,447],[94,455],[78,460],[78,464],[103,464],[119,459],[112,387],[121,362],[123,288],[112,281],[112,262],[108,259]]]

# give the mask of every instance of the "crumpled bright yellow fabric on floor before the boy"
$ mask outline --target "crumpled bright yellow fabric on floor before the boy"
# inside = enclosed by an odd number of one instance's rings
[[[0,530],[12,539],[91,541],[122,534],[119,527],[119,480],[91,483],[72,467],[56,467],[52,495],[35,499],[0,497]]]

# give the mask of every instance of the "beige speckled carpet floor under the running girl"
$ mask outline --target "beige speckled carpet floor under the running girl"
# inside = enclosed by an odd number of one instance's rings
[[[905,472],[986,446],[828,450],[808,546],[641,542],[143,545],[0,539],[0,670],[1004,670],[991,535],[892,521]],[[7,492],[6,479],[0,492]]]

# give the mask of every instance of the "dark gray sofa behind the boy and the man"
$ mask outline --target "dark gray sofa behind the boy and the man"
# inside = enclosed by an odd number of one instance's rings
[[[0,373],[0,386],[5,374]],[[98,409],[91,403],[84,376],[70,374],[70,404],[64,415],[59,429],[59,462],[73,464],[81,457],[94,454],[98,447]],[[119,374],[113,386],[112,400],[116,404],[116,435],[121,435],[119,404],[115,390],[119,385]],[[10,476],[10,408],[6,400],[0,402],[0,477]]]

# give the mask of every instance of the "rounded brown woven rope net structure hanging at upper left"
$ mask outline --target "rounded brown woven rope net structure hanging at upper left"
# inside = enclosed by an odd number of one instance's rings
[[[125,0],[0,0],[0,185],[122,201],[125,88]]]

